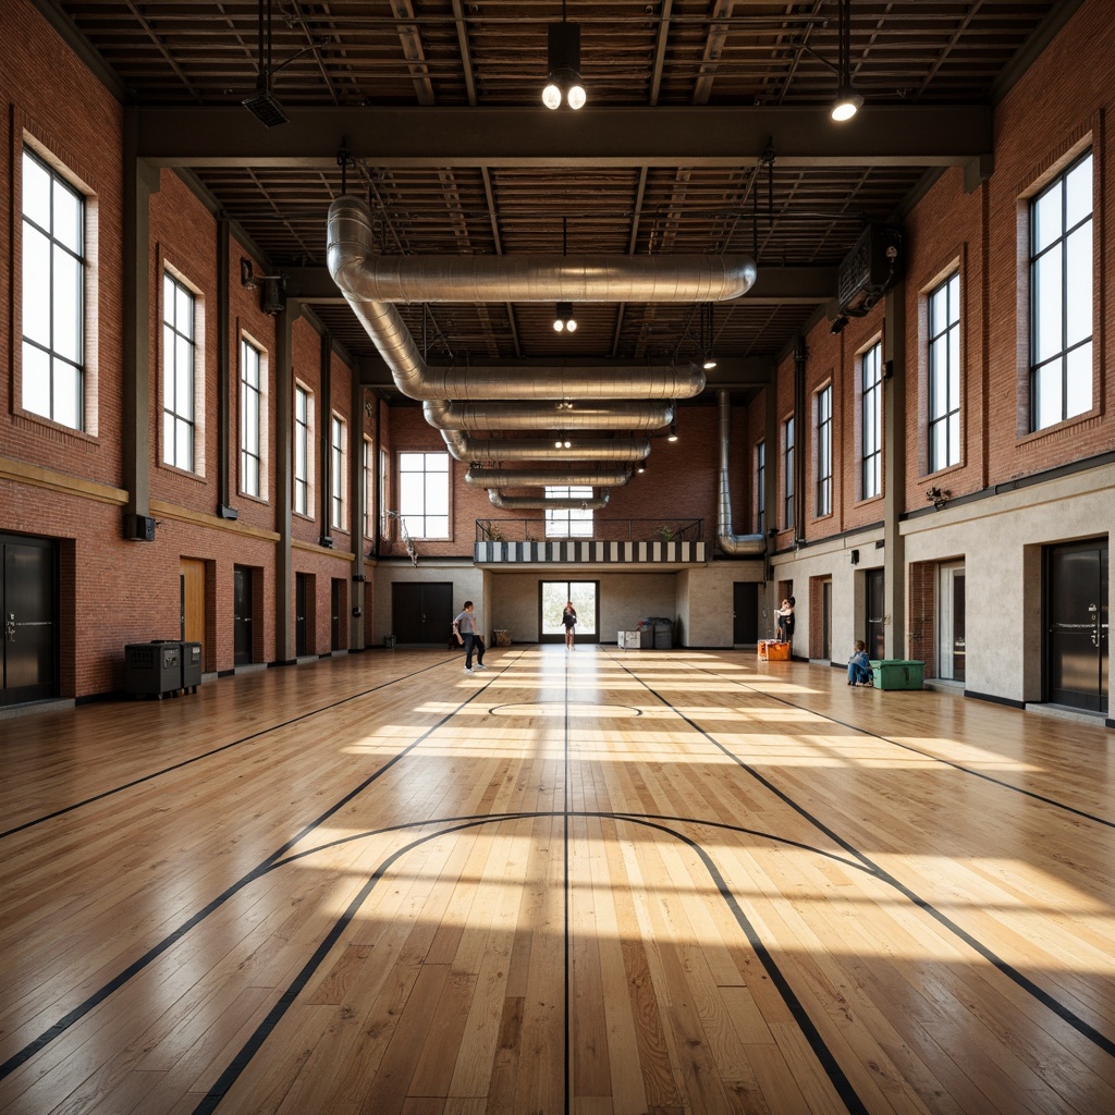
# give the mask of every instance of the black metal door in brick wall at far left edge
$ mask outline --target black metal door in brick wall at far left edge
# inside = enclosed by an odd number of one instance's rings
[[[58,559],[47,539],[0,535],[3,686],[0,705],[58,696]]]

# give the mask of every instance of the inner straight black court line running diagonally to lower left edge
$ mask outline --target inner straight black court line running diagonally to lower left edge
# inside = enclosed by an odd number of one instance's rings
[[[520,656],[522,657],[522,656]],[[427,667],[428,669],[428,667]],[[424,670],[417,671],[419,673]],[[502,672],[502,671],[501,671]],[[242,891],[250,883],[265,875],[288,852],[291,851],[300,841],[304,840],[310,833],[319,828],[324,824],[333,814],[342,809],[349,802],[353,801],[360,794],[363,793],[372,783],[382,777],[391,767],[399,763],[403,758],[410,754],[419,744],[424,743],[429,738],[438,728],[446,724],[449,719],[456,716],[463,708],[476,700],[485,689],[498,677],[500,673],[493,675],[493,677],[481,688],[477,689],[471,697],[462,701],[455,709],[446,712],[436,724],[430,725],[421,735],[413,739],[406,747],[397,752],[391,756],[382,766],[378,767],[372,772],[367,778],[365,778],[359,785],[353,789],[345,794],[343,797],[339,798],[332,805],[330,805],[323,813],[321,813],[316,820],[309,822],[301,832],[295,836],[292,836],[280,847],[275,849],[266,859],[260,861],[251,871],[242,875],[235,883],[226,888],[221,894],[214,898],[212,901],[206,903],[201,910],[198,910],[191,918],[186,919],[177,929],[173,930],[161,941],[153,944],[143,956],[138,957],[130,964],[127,966],[122,972],[110,979],[107,983],[99,987],[96,991],[89,995],[83,1002],[79,1002],[72,1010],[64,1015],[58,1021],[56,1021],[48,1029],[43,1030],[38,1037],[32,1039],[22,1049],[12,1054],[2,1065],[0,1065],[0,1080],[10,1076],[17,1068],[30,1060],[36,1054],[45,1049],[51,1041],[65,1034],[71,1026],[79,1022],[85,1018],[94,1008],[104,1002],[109,996],[118,991],[124,987],[129,980],[138,976],[145,968],[152,964],[158,959],[167,949],[172,948],[178,941],[181,941],[191,930],[200,925],[210,914],[216,912],[224,905],[229,899],[233,898],[240,891]],[[390,682],[388,682],[390,683]],[[377,687],[381,688],[381,687]],[[349,700],[350,698],[345,698]],[[345,700],[338,704],[345,704]],[[307,714],[308,716],[313,714]],[[290,723],[295,723],[301,717],[295,717],[294,720]],[[231,746],[231,745],[225,745]],[[223,749],[223,748],[221,748]]]

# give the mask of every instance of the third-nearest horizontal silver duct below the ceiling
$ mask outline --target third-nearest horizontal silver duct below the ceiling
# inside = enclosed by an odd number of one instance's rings
[[[562,403],[453,403],[427,399],[426,421],[435,429],[487,433],[505,429],[620,429],[649,433],[673,421],[670,403],[630,403],[582,406]]]

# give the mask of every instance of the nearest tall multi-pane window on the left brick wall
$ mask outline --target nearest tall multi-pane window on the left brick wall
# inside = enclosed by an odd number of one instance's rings
[[[23,151],[23,409],[84,429],[85,198]]]

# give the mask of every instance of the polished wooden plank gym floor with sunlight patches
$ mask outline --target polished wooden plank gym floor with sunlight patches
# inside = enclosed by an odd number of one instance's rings
[[[0,721],[0,1112],[1115,1112],[1115,743],[744,652]]]

